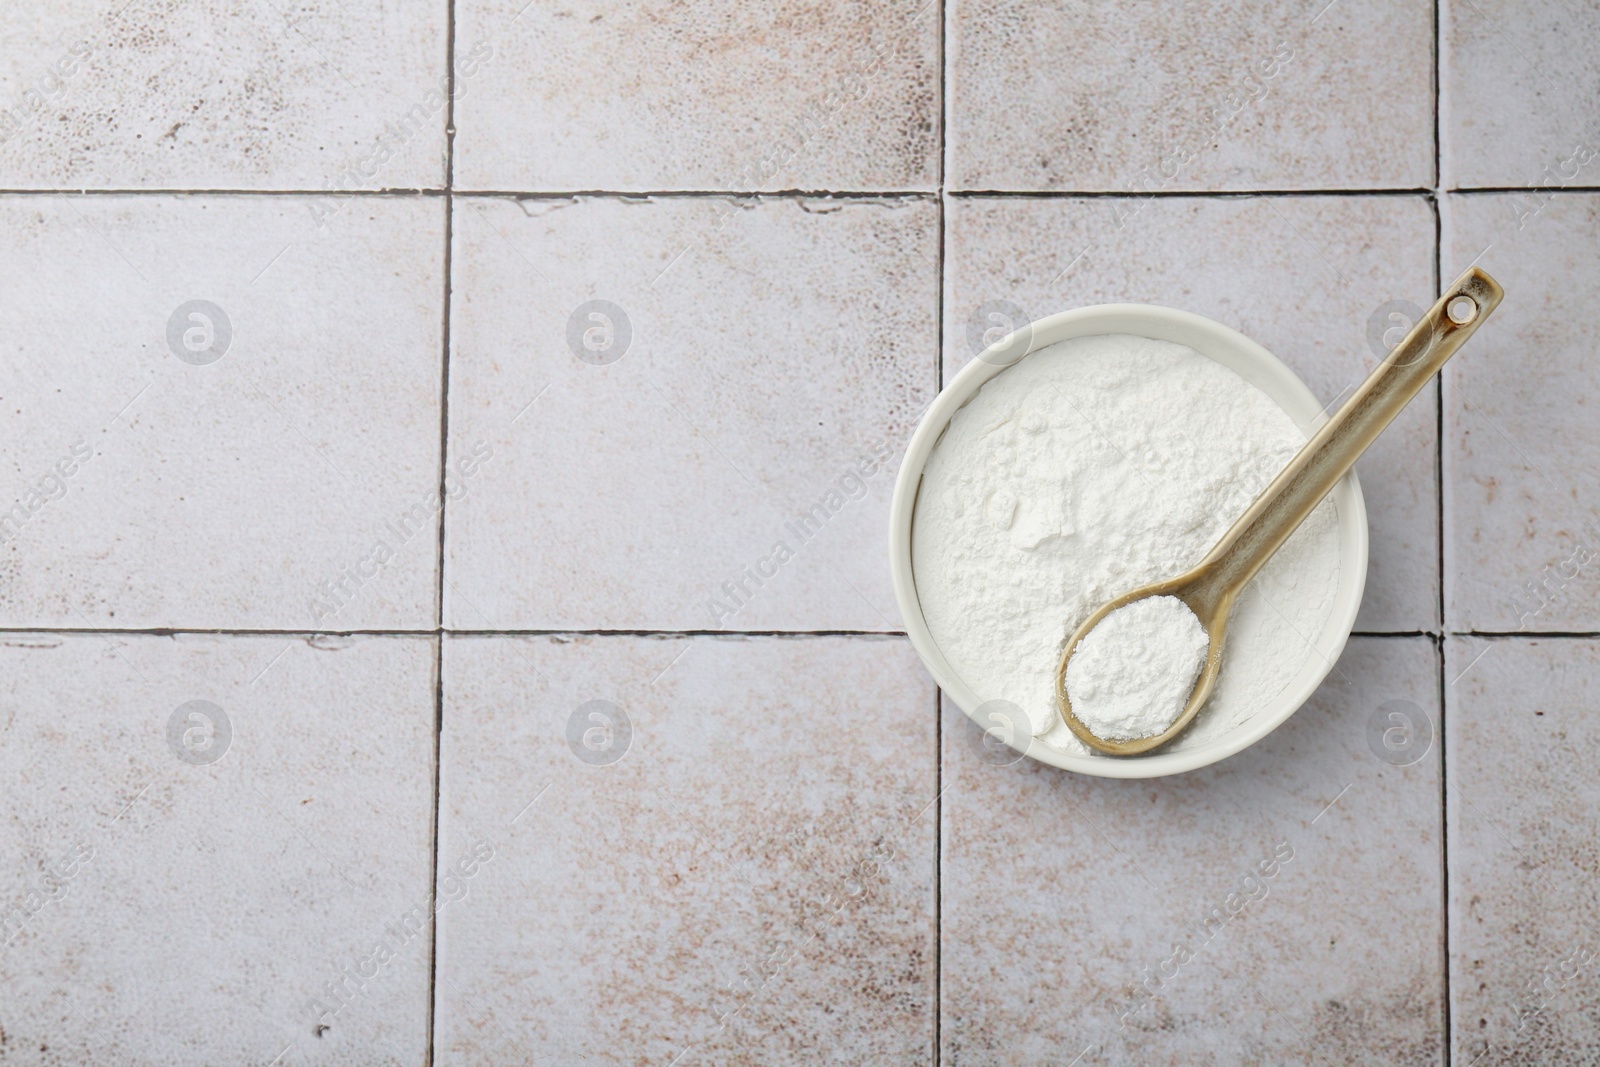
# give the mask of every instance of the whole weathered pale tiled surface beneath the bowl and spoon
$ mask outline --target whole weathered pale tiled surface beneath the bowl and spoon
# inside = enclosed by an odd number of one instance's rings
[[[10,13],[0,1061],[1594,1061],[1594,22]],[[883,549],[979,309],[1186,307],[1334,403],[1469,262],[1317,697],[981,761]]]

